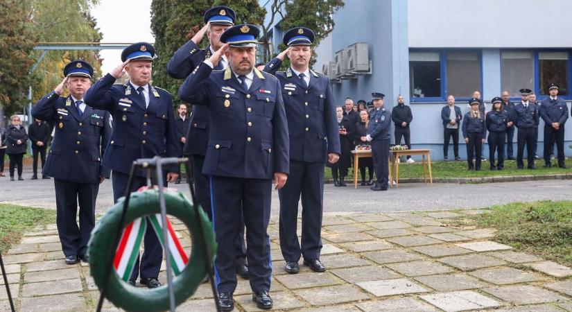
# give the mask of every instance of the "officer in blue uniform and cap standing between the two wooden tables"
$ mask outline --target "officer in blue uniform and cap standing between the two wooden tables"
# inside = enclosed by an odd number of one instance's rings
[[[367,128],[367,141],[372,142],[372,158],[374,161],[375,176],[377,181],[370,188],[372,191],[388,190],[388,159],[389,141],[391,135],[391,114],[383,107],[385,94],[372,93],[374,110],[370,114],[370,126]]]

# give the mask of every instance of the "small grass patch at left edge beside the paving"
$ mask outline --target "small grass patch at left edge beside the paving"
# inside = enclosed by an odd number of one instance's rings
[[[55,223],[55,210],[0,204],[0,252],[17,244],[27,229]]]

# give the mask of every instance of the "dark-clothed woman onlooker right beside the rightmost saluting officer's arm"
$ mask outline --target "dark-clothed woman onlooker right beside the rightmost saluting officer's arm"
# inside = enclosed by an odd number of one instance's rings
[[[347,115],[344,116],[342,107],[336,107],[338,116],[338,128],[340,132],[340,160],[336,164],[329,164],[331,167],[331,177],[333,177],[334,187],[347,187],[344,179],[347,175],[347,168],[352,166],[352,124]]]

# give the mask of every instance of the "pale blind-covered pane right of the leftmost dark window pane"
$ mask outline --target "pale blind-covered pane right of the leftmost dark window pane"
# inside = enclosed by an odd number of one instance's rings
[[[447,94],[469,98],[480,90],[480,58],[477,52],[447,53]]]

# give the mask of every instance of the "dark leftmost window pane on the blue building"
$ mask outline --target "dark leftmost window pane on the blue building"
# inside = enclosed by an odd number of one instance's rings
[[[441,61],[438,52],[409,53],[411,98],[441,98]]]

